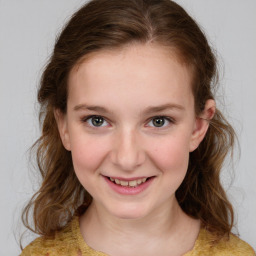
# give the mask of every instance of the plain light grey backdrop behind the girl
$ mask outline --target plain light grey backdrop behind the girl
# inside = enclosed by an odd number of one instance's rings
[[[121,0],[120,0],[121,1]],[[82,0],[0,0],[0,255],[19,254],[20,213],[38,186],[28,149],[39,135],[36,91],[55,37]],[[256,248],[256,1],[177,0],[217,49],[217,100],[240,140],[241,156],[223,170],[235,231]],[[220,95],[224,95],[225,101]],[[25,244],[33,239],[28,236]]]

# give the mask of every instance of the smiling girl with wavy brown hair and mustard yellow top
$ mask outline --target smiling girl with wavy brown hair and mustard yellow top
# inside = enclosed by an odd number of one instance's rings
[[[231,233],[219,179],[234,131],[216,77],[204,34],[172,1],[76,12],[38,92],[43,182],[23,221],[41,237],[21,255],[254,255]]]

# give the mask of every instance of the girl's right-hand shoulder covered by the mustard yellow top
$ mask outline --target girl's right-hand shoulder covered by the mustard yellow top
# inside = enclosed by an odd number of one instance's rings
[[[214,236],[206,231],[200,231],[199,239],[196,243],[196,254],[192,255],[211,255],[211,256],[255,256],[253,248],[240,239],[231,234],[229,239],[222,238],[217,244],[212,243]],[[194,250],[193,250],[194,251]]]

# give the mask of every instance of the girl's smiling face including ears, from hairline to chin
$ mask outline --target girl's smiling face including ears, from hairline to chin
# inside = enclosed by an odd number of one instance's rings
[[[93,203],[130,219],[169,208],[208,127],[189,69],[163,47],[133,45],[94,53],[68,84],[58,126]]]

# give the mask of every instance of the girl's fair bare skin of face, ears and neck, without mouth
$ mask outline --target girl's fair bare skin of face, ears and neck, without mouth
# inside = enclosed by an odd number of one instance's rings
[[[76,175],[93,197],[80,227],[95,250],[165,256],[193,248],[200,222],[181,210],[175,191],[215,104],[208,100],[195,115],[191,77],[175,54],[153,44],[94,53],[71,71],[67,113],[55,116]],[[91,115],[102,116],[102,126]],[[156,116],[170,121],[155,127]],[[106,176],[153,178],[141,193],[122,195]]]

